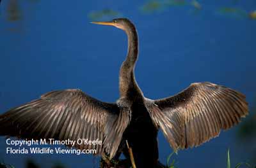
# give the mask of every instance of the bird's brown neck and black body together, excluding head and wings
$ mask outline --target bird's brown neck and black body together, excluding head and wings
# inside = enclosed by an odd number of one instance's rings
[[[118,106],[129,108],[131,121],[123,134],[123,141],[132,146],[134,160],[138,167],[155,167],[158,160],[157,131],[145,106],[145,97],[134,76],[138,59],[138,35],[131,22],[127,22],[128,53],[120,67]],[[149,147],[150,146],[150,147]],[[129,158],[127,150],[123,151]]]

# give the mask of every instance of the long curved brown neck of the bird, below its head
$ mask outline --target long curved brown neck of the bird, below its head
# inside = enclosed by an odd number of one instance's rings
[[[134,66],[138,59],[138,34],[134,25],[125,30],[128,37],[128,52],[120,68],[119,76],[119,91],[120,97],[134,96],[134,94],[141,93],[134,77]]]

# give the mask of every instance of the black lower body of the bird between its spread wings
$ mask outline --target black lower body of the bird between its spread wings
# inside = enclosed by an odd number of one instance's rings
[[[132,104],[131,122],[125,129],[123,139],[132,147],[137,167],[156,167],[158,162],[157,132],[144,104]],[[123,150],[129,158],[127,150]]]

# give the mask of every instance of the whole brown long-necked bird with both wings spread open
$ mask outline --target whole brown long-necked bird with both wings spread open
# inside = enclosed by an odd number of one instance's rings
[[[118,158],[129,154],[136,167],[157,167],[157,133],[161,130],[170,147],[182,150],[199,146],[221,130],[227,130],[248,115],[245,95],[210,82],[192,83],[176,95],[149,99],[136,82],[134,67],[139,55],[135,25],[127,18],[109,22],[127,34],[127,56],[119,74],[120,97],[103,102],[79,89],[56,90],[0,115],[0,135],[22,139],[99,139],[102,144],[75,144],[79,150],[96,150],[96,155]],[[166,75],[166,78],[169,78]]]

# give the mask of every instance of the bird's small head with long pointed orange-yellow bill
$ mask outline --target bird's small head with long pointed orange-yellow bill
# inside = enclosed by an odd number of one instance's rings
[[[100,24],[100,25],[113,25],[118,29],[122,29],[127,31],[127,29],[134,27],[132,22],[127,18],[115,18],[109,22],[91,22],[92,24]]]

